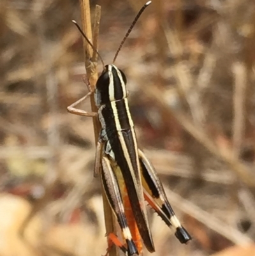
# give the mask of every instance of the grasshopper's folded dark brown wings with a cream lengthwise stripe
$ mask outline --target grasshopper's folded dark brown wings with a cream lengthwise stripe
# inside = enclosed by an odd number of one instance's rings
[[[110,144],[114,160],[119,165],[126,184],[133,215],[143,243],[149,252],[154,252],[154,243],[143,198],[142,177],[134,128],[118,131],[115,139],[113,137],[110,138]]]

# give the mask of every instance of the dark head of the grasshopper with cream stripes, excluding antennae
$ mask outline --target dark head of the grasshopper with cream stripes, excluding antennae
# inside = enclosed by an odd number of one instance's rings
[[[96,82],[94,97],[97,107],[126,98],[126,83],[126,75],[119,68],[106,65]]]

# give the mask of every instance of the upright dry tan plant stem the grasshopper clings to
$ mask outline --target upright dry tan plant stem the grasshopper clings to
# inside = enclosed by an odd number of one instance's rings
[[[82,17],[82,27],[89,39],[92,38],[92,28],[91,28],[91,9],[89,5],[89,0],[80,0],[80,8],[81,8],[81,17]],[[96,15],[94,22],[94,37],[93,37],[93,45],[97,48],[98,46],[98,31],[99,31],[99,19],[100,19],[101,8],[99,6],[96,7]],[[87,72],[87,79],[89,80],[89,84],[91,86],[92,91],[96,86],[96,81],[98,80],[98,73],[96,72],[96,54],[93,54],[93,50],[91,46],[84,40],[84,56],[85,56],[85,68]],[[93,112],[97,112],[98,109],[96,107],[94,101],[94,95],[91,95],[91,110]],[[93,117],[94,124],[94,136],[95,141],[98,141],[100,124],[98,118]],[[103,192],[103,190],[102,190]],[[110,208],[108,201],[106,199],[105,193],[103,193],[103,206],[104,206],[104,214],[105,214],[105,227],[106,234],[111,232],[116,233],[115,231],[115,222],[112,214],[112,209]],[[112,250],[109,252],[109,256],[117,256],[117,248],[115,246],[112,247]]]

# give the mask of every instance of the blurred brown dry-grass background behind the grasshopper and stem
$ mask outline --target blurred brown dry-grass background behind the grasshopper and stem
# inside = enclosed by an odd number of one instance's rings
[[[91,1],[106,64],[144,3]],[[72,19],[78,0],[0,2],[0,255],[106,252],[92,120],[66,111],[87,93]],[[193,236],[148,209],[154,255],[255,255],[254,45],[253,0],[154,0],[117,57],[139,146]]]

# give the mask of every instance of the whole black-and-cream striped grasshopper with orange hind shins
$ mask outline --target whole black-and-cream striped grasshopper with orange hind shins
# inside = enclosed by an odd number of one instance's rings
[[[136,15],[120,43],[113,63],[136,21],[150,3],[151,1],[147,2]],[[75,25],[98,54],[76,22]],[[100,59],[103,63],[101,57]],[[166,225],[174,230],[180,243],[187,243],[191,236],[175,216],[156,170],[138,148],[134,123],[129,112],[126,75],[114,64],[103,66],[95,91],[89,91],[83,98],[70,105],[68,112],[98,117],[101,123],[94,175],[100,174],[103,190],[126,241],[126,246],[122,245],[115,234],[108,234],[109,244],[119,246],[128,256],[142,253],[142,241],[149,252],[155,251],[145,200]],[[86,112],[75,108],[93,93],[98,112]]]

